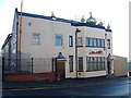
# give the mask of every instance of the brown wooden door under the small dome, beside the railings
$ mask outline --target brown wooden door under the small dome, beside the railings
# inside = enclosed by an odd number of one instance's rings
[[[60,74],[60,78],[64,78],[64,61],[57,61],[57,72]]]

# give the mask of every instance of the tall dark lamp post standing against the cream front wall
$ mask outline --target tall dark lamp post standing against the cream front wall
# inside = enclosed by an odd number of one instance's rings
[[[80,33],[81,30],[79,28],[75,29],[75,74],[76,74],[76,78],[78,78],[78,33]]]

